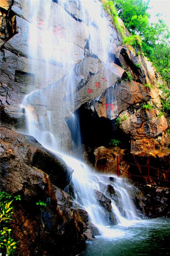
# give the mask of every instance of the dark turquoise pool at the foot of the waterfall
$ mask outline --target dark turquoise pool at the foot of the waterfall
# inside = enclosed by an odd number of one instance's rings
[[[170,255],[170,219],[157,218],[113,227],[117,237],[96,236],[81,256]]]

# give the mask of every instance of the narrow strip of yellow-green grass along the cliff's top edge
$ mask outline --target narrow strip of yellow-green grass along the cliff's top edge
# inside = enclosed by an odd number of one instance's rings
[[[106,10],[108,14],[111,16],[112,23],[115,26],[116,30],[121,35],[121,37],[124,37],[124,28],[119,24],[117,10],[115,8],[114,2],[102,0],[102,3],[104,10]]]

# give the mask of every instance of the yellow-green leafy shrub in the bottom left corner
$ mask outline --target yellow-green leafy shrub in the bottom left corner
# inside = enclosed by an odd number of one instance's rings
[[[12,229],[8,228],[8,222],[12,221],[12,213],[13,213],[13,205],[11,200],[11,196],[4,191],[0,192],[0,208],[1,208],[1,214],[0,214],[0,223],[1,223],[1,242],[0,242],[0,248],[2,256],[12,256],[14,255],[14,251],[16,250],[16,244],[18,242],[15,242],[11,238],[11,231]],[[18,199],[20,196],[16,196],[15,200]]]

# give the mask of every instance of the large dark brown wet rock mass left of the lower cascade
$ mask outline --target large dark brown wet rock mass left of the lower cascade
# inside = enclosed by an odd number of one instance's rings
[[[92,239],[87,213],[82,221],[61,189],[70,175],[62,158],[33,137],[1,128],[1,190],[21,196],[11,223],[16,255],[75,255]]]

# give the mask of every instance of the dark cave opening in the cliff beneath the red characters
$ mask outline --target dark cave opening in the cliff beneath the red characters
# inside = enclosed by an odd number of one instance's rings
[[[73,148],[80,147],[81,144],[88,147],[108,147],[113,138],[121,142],[120,147],[130,148],[128,136],[115,125],[115,119],[99,117],[96,110],[86,109],[85,104],[66,122],[71,131]]]

